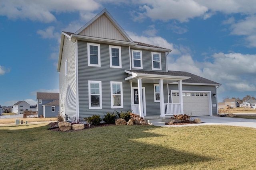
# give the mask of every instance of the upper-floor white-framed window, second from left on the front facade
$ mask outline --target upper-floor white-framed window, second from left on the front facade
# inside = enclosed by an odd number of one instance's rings
[[[122,68],[121,47],[109,46],[110,67]]]

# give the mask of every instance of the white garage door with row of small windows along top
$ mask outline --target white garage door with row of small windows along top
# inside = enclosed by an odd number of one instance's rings
[[[200,92],[184,92],[183,106],[184,114],[192,116],[208,116],[210,115],[209,109],[209,93]],[[172,93],[172,103],[179,103],[178,92]]]

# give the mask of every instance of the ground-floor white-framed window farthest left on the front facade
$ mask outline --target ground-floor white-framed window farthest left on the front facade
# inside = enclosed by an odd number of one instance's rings
[[[101,81],[88,81],[89,109],[102,109]]]

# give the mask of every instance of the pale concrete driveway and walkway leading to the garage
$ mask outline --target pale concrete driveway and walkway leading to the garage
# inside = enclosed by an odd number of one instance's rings
[[[256,119],[242,119],[234,117],[218,117],[218,116],[198,116],[191,117],[192,120],[199,118],[204,123],[188,124],[188,125],[163,125],[163,127],[183,127],[183,126],[201,126],[201,125],[229,125],[256,128]]]

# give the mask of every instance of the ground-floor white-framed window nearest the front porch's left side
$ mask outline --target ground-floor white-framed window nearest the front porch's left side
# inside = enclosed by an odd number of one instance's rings
[[[123,84],[122,82],[110,82],[111,86],[111,108],[124,108],[123,106]]]

